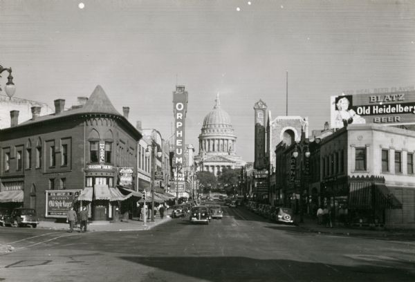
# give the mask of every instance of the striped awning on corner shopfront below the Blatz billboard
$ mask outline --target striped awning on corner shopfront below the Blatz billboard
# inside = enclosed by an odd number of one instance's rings
[[[349,208],[371,209],[372,182],[351,182],[349,185]]]

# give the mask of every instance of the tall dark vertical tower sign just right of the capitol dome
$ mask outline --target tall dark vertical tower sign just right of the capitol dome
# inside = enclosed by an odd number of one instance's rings
[[[254,169],[266,168],[266,109],[262,100],[254,105],[255,111],[255,158]]]

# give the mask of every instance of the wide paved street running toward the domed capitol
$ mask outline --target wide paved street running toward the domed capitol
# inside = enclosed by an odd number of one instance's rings
[[[317,234],[223,209],[209,225],[178,218],[138,232],[0,227],[15,247],[0,256],[0,281],[415,281],[414,241]]]

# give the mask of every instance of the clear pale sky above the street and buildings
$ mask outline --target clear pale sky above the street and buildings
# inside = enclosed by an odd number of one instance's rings
[[[100,84],[120,113],[130,107],[131,124],[168,139],[184,85],[185,141],[199,153],[220,93],[248,162],[253,106],[286,115],[286,73],[288,115],[308,117],[310,130],[329,121],[332,95],[415,84],[415,1],[0,0],[0,27],[15,97],[70,107]]]

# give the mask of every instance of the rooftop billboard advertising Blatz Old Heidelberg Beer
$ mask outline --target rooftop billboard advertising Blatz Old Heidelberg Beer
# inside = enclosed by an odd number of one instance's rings
[[[331,128],[348,124],[415,124],[415,91],[331,96]]]

